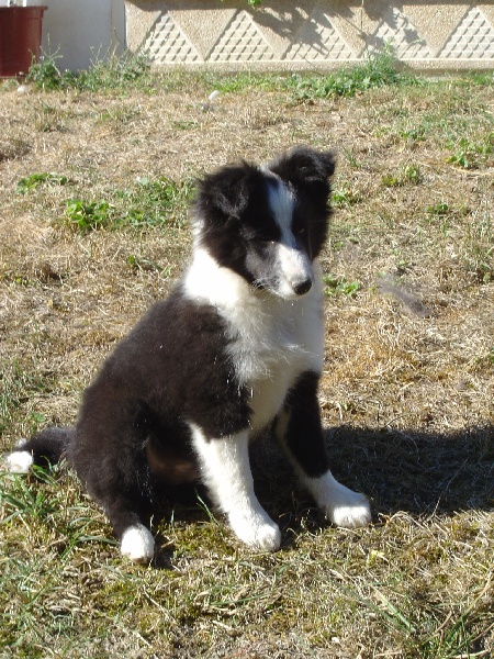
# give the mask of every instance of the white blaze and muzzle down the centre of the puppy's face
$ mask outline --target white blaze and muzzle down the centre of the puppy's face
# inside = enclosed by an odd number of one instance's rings
[[[280,228],[277,261],[279,290],[282,298],[296,298],[306,293],[313,283],[312,264],[292,231],[294,193],[281,181],[269,185],[269,204]]]

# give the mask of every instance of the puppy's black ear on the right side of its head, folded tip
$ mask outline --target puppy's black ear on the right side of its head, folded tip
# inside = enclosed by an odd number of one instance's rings
[[[316,152],[308,146],[295,146],[278,160],[269,164],[269,169],[293,186],[328,185],[334,175],[336,157],[334,152]]]

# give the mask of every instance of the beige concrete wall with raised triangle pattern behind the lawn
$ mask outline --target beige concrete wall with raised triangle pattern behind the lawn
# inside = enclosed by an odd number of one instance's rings
[[[391,48],[416,69],[494,68],[494,0],[128,0],[126,31],[157,66],[330,69]]]

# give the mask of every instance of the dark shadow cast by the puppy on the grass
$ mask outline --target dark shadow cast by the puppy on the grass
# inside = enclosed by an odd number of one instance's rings
[[[326,431],[334,476],[364,493],[373,520],[404,511],[413,515],[450,515],[494,509],[494,425],[439,434],[338,426]],[[327,522],[297,485],[292,468],[269,438],[251,449],[256,493],[283,532],[289,547],[302,528]],[[170,493],[171,494],[171,493]],[[180,523],[209,520],[203,488],[183,488],[168,498]],[[164,518],[169,518],[165,512]],[[158,552],[156,567],[172,562],[172,548]]]

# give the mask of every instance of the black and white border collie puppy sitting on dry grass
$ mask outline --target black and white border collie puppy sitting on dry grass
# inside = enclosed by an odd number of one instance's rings
[[[153,557],[144,511],[160,490],[198,480],[240,540],[274,551],[280,529],[256,498],[248,455],[268,428],[334,524],[367,524],[367,499],[332,476],[317,404],[317,257],[334,169],[332,153],[295,147],[261,167],[240,163],[206,176],[182,279],[106,359],[77,426],[18,445],[8,468],[23,472],[66,455],[132,560]]]

